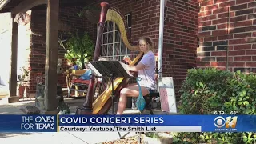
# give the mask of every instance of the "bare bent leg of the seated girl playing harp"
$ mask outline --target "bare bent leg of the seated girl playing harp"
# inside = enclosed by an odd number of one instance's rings
[[[146,87],[141,86],[141,88],[142,88],[143,96],[145,96],[146,94],[150,94],[149,90],[147,90]],[[122,114],[123,111],[126,109],[127,97],[138,97],[138,94],[139,94],[138,85],[128,86],[126,88],[123,88],[120,92],[117,114],[118,115]]]

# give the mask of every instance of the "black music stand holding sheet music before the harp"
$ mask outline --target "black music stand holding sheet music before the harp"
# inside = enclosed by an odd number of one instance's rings
[[[112,114],[115,114],[114,110],[114,78],[130,78],[133,77],[129,70],[126,68],[126,64],[119,61],[93,61],[89,62],[88,66],[90,70],[99,78],[110,78],[112,86]]]

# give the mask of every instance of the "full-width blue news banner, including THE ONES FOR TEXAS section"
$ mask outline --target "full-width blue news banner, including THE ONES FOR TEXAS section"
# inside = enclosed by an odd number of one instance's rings
[[[88,130],[89,126],[155,126],[154,130],[166,132],[256,132],[256,115],[0,115],[0,132],[57,132],[86,126]]]

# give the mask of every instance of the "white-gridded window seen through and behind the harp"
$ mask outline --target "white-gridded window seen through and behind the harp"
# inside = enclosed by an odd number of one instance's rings
[[[131,32],[131,14],[126,15],[126,22]],[[100,58],[113,58],[120,61],[124,55],[130,56],[130,50],[124,45],[118,25],[114,22],[107,21],[105,24],[101,50]]]

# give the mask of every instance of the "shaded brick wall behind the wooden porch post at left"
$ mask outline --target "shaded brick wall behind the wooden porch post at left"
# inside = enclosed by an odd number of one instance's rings
[[[59,11],[59,31],[64,37],[66,32],[84,32],[85,18],[77,16],[82,7],[60,7]],[[31,54],[30,54],[30,93],[35,93],[36,78],[43,77],[45,73],[46,60],[46,10],[33,10],[31,14]],[[66,71],[67,62],[64,58],[66,50],[58,46],[58,58],[62,58],[62,67]],[[66,86],[66,78],[63,74],[58,74],[58,84]]]

